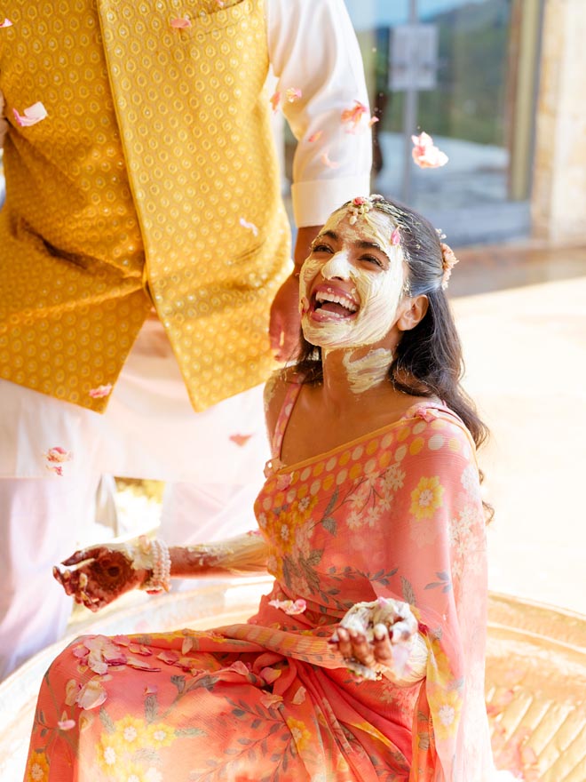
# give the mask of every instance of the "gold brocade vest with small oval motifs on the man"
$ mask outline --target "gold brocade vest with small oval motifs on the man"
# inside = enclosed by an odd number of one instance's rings
[[[289,259],[263,0],[4,11],[0,377],[103,411],[154,303],[196,410],[262,382]]]

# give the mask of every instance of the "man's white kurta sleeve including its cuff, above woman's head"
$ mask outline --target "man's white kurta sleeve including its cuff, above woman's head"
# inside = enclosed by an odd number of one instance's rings
[[[368,108],[360,49],[344,0],[267,0],[266,19],[281,108],[297,139],[295,221],[321,225],[342,203],[369,192],[369,110],[355,129],[342,122],[355,101]],[[301,98],[289,102],[289,88],[301,90]]]

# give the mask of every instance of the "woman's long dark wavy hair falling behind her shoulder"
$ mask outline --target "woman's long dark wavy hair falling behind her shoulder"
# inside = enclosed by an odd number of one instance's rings
[[[406,394],[438,396],[463,420],[478,448],[487,439],[488,429],[460,385],[464,369],[462,345],[442,288],[440,235],[429,220],[407,206],[382,196],[372,196],[370,200],[376,211],[387,214],[392,225],[400,229],[400,244],[408,266],[405,293],[408,296],[424,293],[429,301],[427,312],[416,327],[402,332],[394,350],[389,379],[397,390]],[[321,349],[302,338],[296,368],[305,382],[312,385],[322,379],[321,360],[316,358],[321,359]]]

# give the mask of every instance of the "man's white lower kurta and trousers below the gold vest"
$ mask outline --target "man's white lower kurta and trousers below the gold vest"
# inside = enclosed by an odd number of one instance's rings
[[[90,542],[100,475],[170,482],[161,535],[181,544],[252,529],[269,458],[262,389],[195,413],[158,321],[104,415],[0,380],[0,443],[0,679],[65,632],[52,565]],[[46,469],[55,446],[73,454],[62,476]]]

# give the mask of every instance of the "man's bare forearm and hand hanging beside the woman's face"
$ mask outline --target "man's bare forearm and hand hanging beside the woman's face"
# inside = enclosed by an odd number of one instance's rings
[[[269,336],[271,349],[277,361],[288,361],[294,357],[299,345],[299,270],[311,251],[313,239],[320,233],[321,226],[305,226],[297,230],[297,242],[293,259],[295,271],[277,291],[271,307]]]

